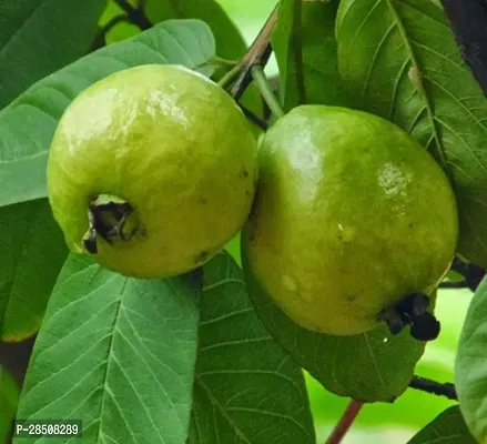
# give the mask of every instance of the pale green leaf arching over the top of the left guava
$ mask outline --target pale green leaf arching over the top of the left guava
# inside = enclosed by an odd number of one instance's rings
[[[102,78],[146,63],[179,63],[210,75],[210,28],[173,20],[79,59],[29,88],[0,111],[0,206],[44,198],[45,163],[58,120],[82,90]]]

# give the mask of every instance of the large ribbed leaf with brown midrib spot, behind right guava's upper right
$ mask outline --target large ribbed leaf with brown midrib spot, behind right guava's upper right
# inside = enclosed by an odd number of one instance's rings
[[[338,64],[354,107],[415,137],[449,175],[458,252],[487,266],[487,101],[439,2],[343,0]]]

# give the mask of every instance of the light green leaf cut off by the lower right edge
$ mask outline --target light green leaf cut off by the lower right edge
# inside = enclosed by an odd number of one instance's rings
[[[487,440],[487,280],[468,306],[455,361],[455,386],[461,413],[473,435]]]

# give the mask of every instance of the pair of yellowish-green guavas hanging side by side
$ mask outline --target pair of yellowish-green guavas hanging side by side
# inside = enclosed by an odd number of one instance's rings
[[[128,69],[84,90],[55,131],[48,190],[70,249],[128,276],[192,271],[243,229],[254,289],[335,335],[428,295],[458,236],[448,179],[393,123],[301,105],[257,145],[233,99],[180,65]],[[409,305],[399,321],[417,312]]]

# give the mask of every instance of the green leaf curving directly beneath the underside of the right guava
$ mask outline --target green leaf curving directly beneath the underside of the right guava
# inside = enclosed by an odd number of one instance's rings
[[[408,386],[425,343],[408,329],[392,336],[386,326],[353,336],[332,336],[303,329],[262,289],[242,245],[248,294],[274,339],[323,386],[339,396],[363,402],[390,402]]]

